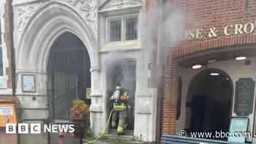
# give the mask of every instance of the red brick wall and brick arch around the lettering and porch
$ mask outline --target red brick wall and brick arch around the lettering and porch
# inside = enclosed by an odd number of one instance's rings
[[[173,7],[182,7],[186,11],[187,29],[204,29],[208,35],[211,27],[219,32],[217,38],[184,41],[173,48],[173,62],[165,65],[164,96],[162,106],[162,134],[175,134],[176,130],[176,58],[184,58],[192,53],[204,53],[212,48],[256,43],[256,35],[241,34],[225,36],[223,29],[227,24],[255,23],[256,1],[254,0],[172,0]]]

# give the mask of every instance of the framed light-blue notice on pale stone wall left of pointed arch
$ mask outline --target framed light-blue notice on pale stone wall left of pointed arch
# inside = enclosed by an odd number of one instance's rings
[[[35,75],[21,75],[22,91],[24,93],[36,92],[36,78]]]

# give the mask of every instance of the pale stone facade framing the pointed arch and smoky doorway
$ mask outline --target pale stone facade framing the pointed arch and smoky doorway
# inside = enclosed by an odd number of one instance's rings
[[[85,0],[86,1],[86,0]],[[48,118],[47,66],[50,47],[65,32],[79,37],[88,50],[91,61],[91,129],[99,134],[105,127],[108,115],[105,86],[105,58],[111,50],[100,45],[99,38],[99,0],[81,3],[77,0],[14,0],[14,47],[17,77],[17,96],[22,103],[23,118]],[[113,0],[108,4],[116,4]],[[140,10],[140,0],[131,0],[121,7]],[[130,7],[129,4],[135,4]],[[104,5],[105,6],[105,5]],[[108,10],[122,10],[117,5]],[[103,11],[102,11],[103,12]],[[108,13],[108,12],[107,12]],[[105,26],[105,25],[103,25]],[[140,39],[141,41],[141,39]],[[139,43],[139,44],[138,44]],[[138,140],[154,141],[156,132],[157,94],[154,88],[148,88],[146,61],[141,61],[140,42],[136,46],[126,45],[120,50],[122,58],[136,61],[135,91],[135,131]],[[21,75],[35,75],[36,92],[22,91]],[[146,122],[145,122],[146,121]]]

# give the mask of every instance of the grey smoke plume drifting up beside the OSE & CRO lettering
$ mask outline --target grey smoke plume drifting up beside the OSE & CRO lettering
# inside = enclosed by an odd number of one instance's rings
[[[162,7],[146,13],[145,54],[149,61],[157,60],[158,69],[163,68],[167,58],[170,60],[172,48],[182,40],[181,37],[186,30],[185,11],[184,8],[175,7],[171,1],[167,1]],[[154,55],[157,55],[156,59]],[[161,73],[159,72],[159,75],[162,75]]]

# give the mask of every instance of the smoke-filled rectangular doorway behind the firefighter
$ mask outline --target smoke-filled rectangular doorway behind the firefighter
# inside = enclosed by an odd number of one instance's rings
[[[110,96],[113,94],[115,87],[118,83],[125,88],[125,90],[129,93],[128,105],[129,110],[127,112],[127,128],[126,134],[133,134],[134,123],[135,123],[135,88],[136,88],[136,75],[135,69],[136,64],[134,60],[131,59],[119,59],[115,62],[111,62],[111,64],[107,64],[107,95],[108,100],[110,100]],[[108,102],[108,110],[110,111],[111,105],[110,101]],[[118,121],[118,119],[116,120]],[[111,128],[110,132],[116,132],[116,129]]]

